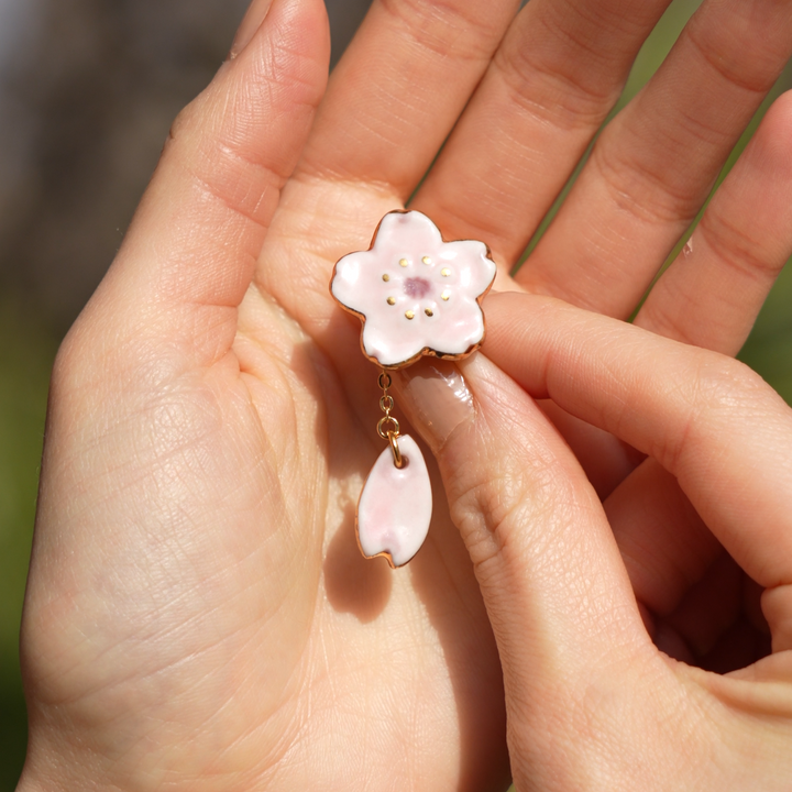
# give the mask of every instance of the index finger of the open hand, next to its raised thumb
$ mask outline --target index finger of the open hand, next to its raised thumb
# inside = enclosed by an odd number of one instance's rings
[[[300,173],[403,201],[437,155],[519,3],[375,0],[333,70]]]

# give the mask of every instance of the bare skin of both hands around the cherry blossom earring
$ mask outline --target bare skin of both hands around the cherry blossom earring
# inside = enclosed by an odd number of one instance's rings
[[[664,9],[517,6],[375,0],[326,86],[320,0],[255,0],[176,120],[53,374],[23,792],[784,788],[792,418],[729,355],[792,252],[790,97],[624,320],[792,7],[705,2],[513,279]],[[377,371],[328,282],[449,133],[413,207],[502,294],[484,353],[396,383],[437,464],[394,573],[354,542]]]

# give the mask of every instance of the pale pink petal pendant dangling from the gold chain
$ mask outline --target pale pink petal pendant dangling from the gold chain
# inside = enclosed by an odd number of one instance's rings
[[[377,458],[358,502],[358,541],[366,558],[384,556],[404,566],[420,550],[431,521],[432,497],[424,454],[409,435],[398,436],[397,468],[388,446]]]

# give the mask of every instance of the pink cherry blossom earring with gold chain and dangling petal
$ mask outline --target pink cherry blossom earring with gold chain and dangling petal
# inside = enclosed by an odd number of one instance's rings
[[[363,354],[381,369],[384,416],[377,433],[388,443],[358,502],[358,543],[365,558],[383,556],[392,568],[404,566],[420,549],[431,521],[429,472],[416,441],[400,433],[391,415],[388,371],[422,355],[461,360],[479,349],[485,329],[481,301],[495,274],[483,242],[444,242],[437,226],[418,211],[388,212],[367,251],[336,264],[330,293],[361,319]]]

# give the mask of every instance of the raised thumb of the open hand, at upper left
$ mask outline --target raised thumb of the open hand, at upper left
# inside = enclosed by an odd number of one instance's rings
[[[134,349],[155,345],[161,354],[166,344],[201,363],[229,349],[237,307],[321,98],[329,41],[320,0],[254,10],[266,12],[257,31],[174,123],[92,300],[90,310],[114,332],[127,317]],[[254,22],[249,15],[244,24]]]

